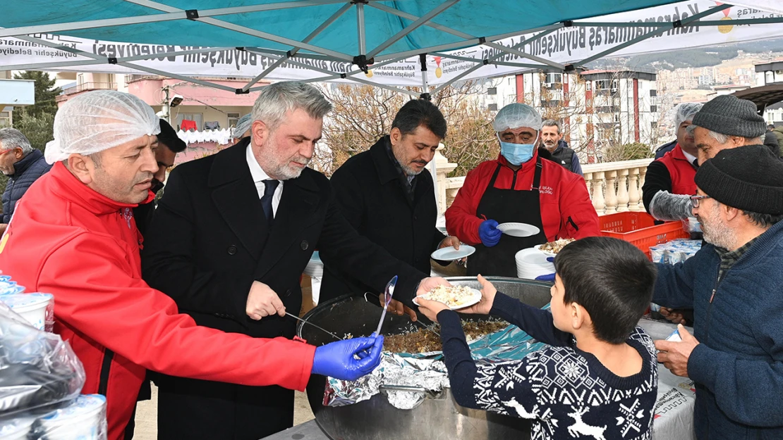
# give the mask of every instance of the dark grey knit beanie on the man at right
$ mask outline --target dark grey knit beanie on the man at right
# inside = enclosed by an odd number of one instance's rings
[[[734,95],[720,95],[707,102],[693,117],[693,124],[743,138],[758,138],[767,131],[767,122],[756,113],[756,104]]]

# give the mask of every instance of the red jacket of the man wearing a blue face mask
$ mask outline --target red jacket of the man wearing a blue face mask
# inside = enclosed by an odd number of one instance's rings
[[[500,163],[501,167],[495,180],[495,188],[511,189],[513,182],[513,189],[530,191],[537,157],[538,152],[535,152],[532,159],[522,164],[516,173],[516,179],[514,179],[514,170],[511,170],[503,156],[482,162],[468,172],[454,202],[449,209],[446,209],[446,230],[449,234],[468,245],[481,243],[481,238],[478,238],[478,226],[484,219],[476,216],[476,209],[497,164]],[[549,160],[542,160],[541,164],[543,169],[539,184],[539,200],[543,232],[547,235],[547,240],[600,235],[598,215],[593,202],[590,202],[590,194],[587,192],[584,178]]]

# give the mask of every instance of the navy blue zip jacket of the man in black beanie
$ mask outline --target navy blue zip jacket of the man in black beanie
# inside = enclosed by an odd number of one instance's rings
[[[699,344],[687,372],[696,383],[696,438],[783,438],[783,222],[720,282],[713,245],[684,263],[656,266],[652,302],[695,313]]]

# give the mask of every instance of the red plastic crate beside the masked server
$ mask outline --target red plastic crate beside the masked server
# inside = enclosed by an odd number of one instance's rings
[[[679,221],[669,221],[655,224],[655,219],[648,213],[616,213],[598,216],[601,225],[601,235],[614,237],[630,242],[650,257],[651,246],[666,243],[676,238],[690,238],[683,231]]]

